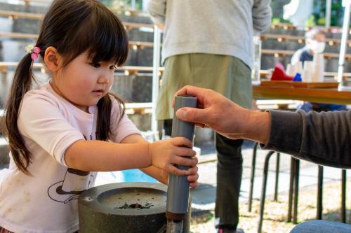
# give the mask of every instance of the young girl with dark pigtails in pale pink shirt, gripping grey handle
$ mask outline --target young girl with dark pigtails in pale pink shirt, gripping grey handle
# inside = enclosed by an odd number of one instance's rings
[[[163,183],[171,172],[197,186],[191,141],[147,143],[124,115],[122,101],[108,93],[128,41],[102,3],[53,1],[27,52],[6,108],[12,156],[0,183],[0,232],[76,232],[77,197],[95,180],[89,171],[140,168]],[[51,79],[31,90],[39,56]]]

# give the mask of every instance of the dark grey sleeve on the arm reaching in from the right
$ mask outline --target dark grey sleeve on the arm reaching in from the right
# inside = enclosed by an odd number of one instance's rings
[[[270,111],[267,150],[331,167],[351,168],[351,111]]]

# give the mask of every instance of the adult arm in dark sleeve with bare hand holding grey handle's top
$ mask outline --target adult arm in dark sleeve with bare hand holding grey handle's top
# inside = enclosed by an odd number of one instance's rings
[[[197,122],[230,139],[251,139],[263,148],[332,167],[351,168],[351,111],[249,111],[213,90],[185,86],[198,108],[180,108],[178,118]],[[225,113],[225,114],[223,114]]]

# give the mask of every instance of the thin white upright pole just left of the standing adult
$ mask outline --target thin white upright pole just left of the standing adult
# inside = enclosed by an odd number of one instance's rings
[[[151,115],[151,130],[154,134],[154,139],[159,139],[157,132],[157,120],[156,120],[156,102],[159,94],[159,63],[160,63],[160,50],[161,50],[161,31],[155,25],[154,26],[154,52],[152,62],[152,115]]]

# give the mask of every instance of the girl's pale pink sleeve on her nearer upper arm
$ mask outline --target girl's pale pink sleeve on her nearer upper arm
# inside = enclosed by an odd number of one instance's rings
[[[69,124],[58,103],[48,94],[25,94],[18,128],[23,136],[37,143],[64,166],[67,166],[64,160],[67,148],[75,141],[84,140],[83,134]]]

